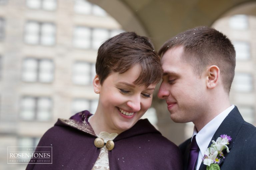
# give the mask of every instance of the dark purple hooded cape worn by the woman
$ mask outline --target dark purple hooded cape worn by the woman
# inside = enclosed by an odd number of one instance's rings
[[[100,148],[88,123],[91,114],[83,111],[69,120],[58,119],[38,146],[52,146],[52,164],[28,164],[26,170],[91,170]],[[110,170],[181,170],[178,147],[161,135],[147,119],[120,133],[108,152]],[[40,151],[37,148],[36,151]]]

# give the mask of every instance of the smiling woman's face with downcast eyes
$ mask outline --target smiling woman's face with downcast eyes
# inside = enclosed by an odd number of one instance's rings
[[[100,94],[96,114],[103,119],[105,131],[121,133],[131,128],[151,106],[156,84],[133,84],[140,71],[137,64],[122,74],[112,72],[102,85],[94,78],[94,90]]]

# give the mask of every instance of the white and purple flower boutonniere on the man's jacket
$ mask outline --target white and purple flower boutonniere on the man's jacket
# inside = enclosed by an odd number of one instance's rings
[[[207,165],[206,170],[220,170],[221,159],[225,159],[223,155],[223,150],[227,149],[229,152],[228,144],[231,141],[231,137],[226,134],[220,135],[216,141],[212,140],[212,144],[204,152],[203,163]]]

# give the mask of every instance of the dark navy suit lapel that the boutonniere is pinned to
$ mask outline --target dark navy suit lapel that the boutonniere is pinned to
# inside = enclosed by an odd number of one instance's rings
[[[243,117],[239,113],[237,107],[235,108],[228,114],[228,116],[224,119],[224,121],[221,123],[219,128],[216,130],[214,133],[212,140],[215,140],[220,137],[222,134],[226,134],[232,138],[231,142],[228,145],[229,151],[231,151],[233,143],[236,139],[237,133],[239,129],[241,128],[242,124],[244,122]],[[212,141],[211,140],[211,141]],[[208,147],[210,147],[212,142],[209,143]],[[226,157],[228,153],[226,150],[224,151],[224,156]],[[225,160],[221,160],[219,165],[221,166]],[[206,170],[206,165],[201,163],[199,170]]]

